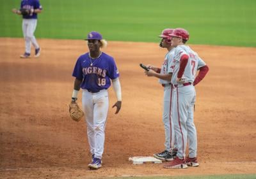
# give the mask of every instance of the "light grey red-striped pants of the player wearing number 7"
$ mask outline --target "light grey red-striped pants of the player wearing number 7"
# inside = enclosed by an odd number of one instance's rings
[[[173,123],[177,138],[177,156],[186,157],[186,145],[189,140],[189,157],[196,157],[197,138],[193,121],[196,92],[193,85],[175,88],[173,95]]]

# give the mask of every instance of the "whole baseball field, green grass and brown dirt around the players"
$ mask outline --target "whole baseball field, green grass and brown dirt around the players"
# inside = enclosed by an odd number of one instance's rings
[[[256,1],[41,0],[39,58],[24,53],[20,1],[0,0],[0,178],[256,178]],[[138,64],[161,66],[161,31],[184,27],[210,68],[196,86],[198,168],[133,165],[164,149],[163,87]],[[115,57],[122,109],[109,108],[102,168],[89,170],[86,122],[68,113],[83,38],[99,31]],[[33,52],[33,51],[32,51]],[[115,101],[109,89],[109,106]],[[79,92],[81,105],[81,92]]]

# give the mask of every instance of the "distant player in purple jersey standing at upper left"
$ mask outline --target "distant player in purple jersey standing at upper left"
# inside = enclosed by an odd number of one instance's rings
[[[28,14],[22,13],[26,10]],[[37,24],[37,14],[42,12],[42,6],[39,0],[22,0],[20,10],[13,9],[13,13],[22,15],[22,32],[25,39],[25,53],[20,58],[28,58],[31,55],[31,43],[35,47],[35,57],[40,56],[41,48],[39,47],[34,32]]]

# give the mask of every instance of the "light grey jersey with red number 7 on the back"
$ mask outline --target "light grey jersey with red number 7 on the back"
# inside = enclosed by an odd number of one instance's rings
[[[182,55],[188,55],[188,64],[182,75],[182,81],[193,83],[196,77],[196,71],[205,66],[205,62],[187,45],[179,45],[175,48],[174,59],[172,61],[171,67],[173,68],[173,75],[171,82],[177,84],[177,75],[180,68],[180,58]]]

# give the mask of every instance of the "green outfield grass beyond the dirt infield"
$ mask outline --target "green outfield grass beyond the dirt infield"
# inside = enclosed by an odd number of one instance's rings
[[[82,39],[100,31],[108,40],[152,41],[166,27],[184,27],[189,43],[256,47],[255,0],[41,0],[36,37]],[[22,37],[20,0],[0,0],[0,36]]]

